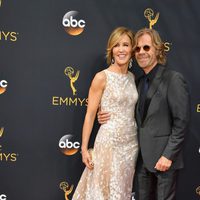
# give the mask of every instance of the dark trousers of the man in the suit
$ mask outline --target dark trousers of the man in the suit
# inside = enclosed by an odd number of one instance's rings
[[[150,172],[142,161],[136,169],[136,200],[175,200],[178,170]]]

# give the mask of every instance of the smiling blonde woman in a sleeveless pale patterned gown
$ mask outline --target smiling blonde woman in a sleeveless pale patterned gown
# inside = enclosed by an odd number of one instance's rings
[[[86,168],[73,200],[130,200],[138,154],[137,127],[134,118],[138,94],[132,65],[134,35],[125,27],[116,28],[107,44],[109,67],[92,81],[82,132],[82,161]],[[101,125],[92,156],[88,141],[96,112],[111,113]]]

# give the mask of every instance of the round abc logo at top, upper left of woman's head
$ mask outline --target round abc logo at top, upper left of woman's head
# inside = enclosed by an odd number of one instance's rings
[[[62,24],[65,31],[70,35],[79,35],[84,31],[85,21],[77,18],[77,11],[70,11],[63,17]]]

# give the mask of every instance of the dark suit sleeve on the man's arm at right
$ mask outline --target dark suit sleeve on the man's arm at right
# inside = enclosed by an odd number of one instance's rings
[[[183,76],[175,72],[167,91],[168,105],[171,114],[171,135],[163,156],[174,161],[182,149],[184,135],[188,131],[190,118],[190,100],[187,84]]]

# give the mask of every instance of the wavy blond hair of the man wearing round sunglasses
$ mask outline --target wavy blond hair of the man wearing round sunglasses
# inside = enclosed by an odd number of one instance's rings
[[[151,37],[153,46],[157,50],[157,61],[159,64],[164,65],[166,63],[166,52],[165,52],[165,46],[164,43],[162,42],[159,33],[154,30],[154,29],[149,29],[149,28],[143,28],[140,29],[136,34],[135,34],[135,45],[133,49],[135,50],[137,43],[138,43],[138,38],[141,37],[144,34],[148,34]]]

